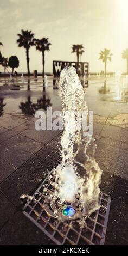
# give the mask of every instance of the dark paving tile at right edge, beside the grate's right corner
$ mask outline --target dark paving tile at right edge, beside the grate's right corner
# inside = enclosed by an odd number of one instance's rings
[[[114,175],[111,196],[128,205],[128,180]]]

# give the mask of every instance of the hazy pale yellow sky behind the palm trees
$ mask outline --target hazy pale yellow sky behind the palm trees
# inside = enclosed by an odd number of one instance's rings
[[[0,5],[1,52],[4,57],[18,57],[17,71],[27,71],[25,49],[16,44],[21,29],[52,43],[46,52],[46,71],[52,71],[53,60],[76,61],[72,44],[84,45],[81,61],[89,62],[89,71],[104,69],[98,53],[105,47],[113,53],[108,71],[126,71],[121,52],[128,48],[128,0],[0,0]],[[42,56],[31,47],[30,71],[34,69],[42,71]]]

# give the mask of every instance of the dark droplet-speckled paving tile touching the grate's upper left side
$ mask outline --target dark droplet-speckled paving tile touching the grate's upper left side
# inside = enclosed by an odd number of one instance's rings
[[[54,163],[50,164],[38,156],[33,156],[0,185],[0,191],[10,202],[19,206],[23,203],[20,196],[33,194],[52,167],[54,167]]]

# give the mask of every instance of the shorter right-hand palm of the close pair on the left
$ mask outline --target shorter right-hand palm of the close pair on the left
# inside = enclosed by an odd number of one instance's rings
[[[33,42],[36,46],[36,50],[42,52],[42,65],[43,65],[42,76],[44,77],[44,65],[45,65],[44,52],[50,50],[49,46],[51,44],[48,41],[48,38],[34,39]]]

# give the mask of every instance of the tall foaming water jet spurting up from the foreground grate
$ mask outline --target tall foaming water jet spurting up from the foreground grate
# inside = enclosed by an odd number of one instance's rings
[[[81,126],[82,112],[87,111],[87,105],[84,90],[72,66],[61,71],[60,96],[64,123],[62,162],[54,170],[55,192],[50,196],[51,204],[59,197],[61,207],[63,204],[79,204],[87,216],[99,208],[101,170],[94,159],[94,141],[91,136],[84,136]],[[59,217],[59,212],[55,214]]]

